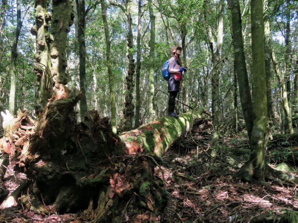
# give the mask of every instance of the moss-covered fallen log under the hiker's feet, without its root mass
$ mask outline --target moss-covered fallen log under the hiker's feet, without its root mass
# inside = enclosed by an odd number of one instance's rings
[[[125,152],[127,154],[145,152],[162,156],[177,138],[191,129],[196,119],[202,118],[202,113],[203,110],[199,110],[180,114],[179,118],[165,116],[122,133],[120,138],[125,143]]]

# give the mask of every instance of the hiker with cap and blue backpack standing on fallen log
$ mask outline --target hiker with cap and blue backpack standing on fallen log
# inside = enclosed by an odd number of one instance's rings
[[[181,47],[172,47],[172,57],[170,58],[168,69],[170,74],[170,78],[168,80],[168,92],[170,93],[168,102],[168,115],[175,118],[178,118],[178,115],[174,111],[175,99],[178,92],[180,91],[183,72],[187,70],[187,68],[182,67],[182,61],[180,59],[181,51]]]

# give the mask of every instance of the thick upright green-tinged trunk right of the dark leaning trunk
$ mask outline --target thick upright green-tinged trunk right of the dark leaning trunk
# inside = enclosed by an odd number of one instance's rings
[[[254,121],[251,134],[252,177],[265,179],[265,147],[267,132],[267,91],[264,54],[263,5],[260,0],[251,0],[251,42],[252,42],[252,83]]]

